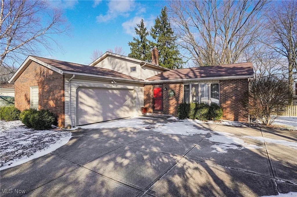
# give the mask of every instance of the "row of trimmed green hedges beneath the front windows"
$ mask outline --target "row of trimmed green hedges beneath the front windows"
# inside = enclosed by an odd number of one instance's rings
[[[198,120],[219,120],[223,111],[217,104],[211,106],[204,103],[181,103],[178,106],[178,118],[198,119]]]

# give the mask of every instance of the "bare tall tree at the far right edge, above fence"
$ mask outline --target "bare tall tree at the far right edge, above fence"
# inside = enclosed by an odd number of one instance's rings
[[[271,37],[267,43],[277,53],[287,58],[287,73],[290,88],[289,103],[292,103],[293,82],[297,74],[297,1],[281,1],[268,14]]]

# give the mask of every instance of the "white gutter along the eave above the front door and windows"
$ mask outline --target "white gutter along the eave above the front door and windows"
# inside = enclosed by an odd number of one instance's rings
[[[178,82],[178,81],[204,81],[204,80],[223,80],[223,79],[245,79],[254,78],[254,75],[244,76],[226,76],[226,77],[204,77],[204,78],[190,78],[190,79],[170,79],[170,80],[154,80],[145,83],[159,83],[159,82]]]

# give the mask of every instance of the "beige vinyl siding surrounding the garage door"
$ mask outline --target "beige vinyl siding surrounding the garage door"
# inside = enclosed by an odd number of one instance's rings
[[[70,103],[70,117],[68,115],[68,103],[69,103],[69,92],[68,92],[68,80],[71,76],[65,76],[65,126],[71,124],[70,118],[72,120],[72,126],[75,123],[75,106],[76,106],[76,89],[79,87],[98,87],[98,88],[124,88],[124,89],[134,89],[135,98],[135,113],[134,115],[141,114],[141,107],[143,107],[143,84],[129,83],[129,82],[117,82],[115,85],[111,84],[111,80],[98,80],[98,79],[85,79],[75,77],[70,81],[71,84],[71,103]]]

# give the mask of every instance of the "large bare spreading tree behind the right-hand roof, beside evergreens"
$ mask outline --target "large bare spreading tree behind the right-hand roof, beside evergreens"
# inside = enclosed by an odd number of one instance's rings
[[[179,45],[198,66],[236,63],[262,31],[267,1],[171,1]]]

